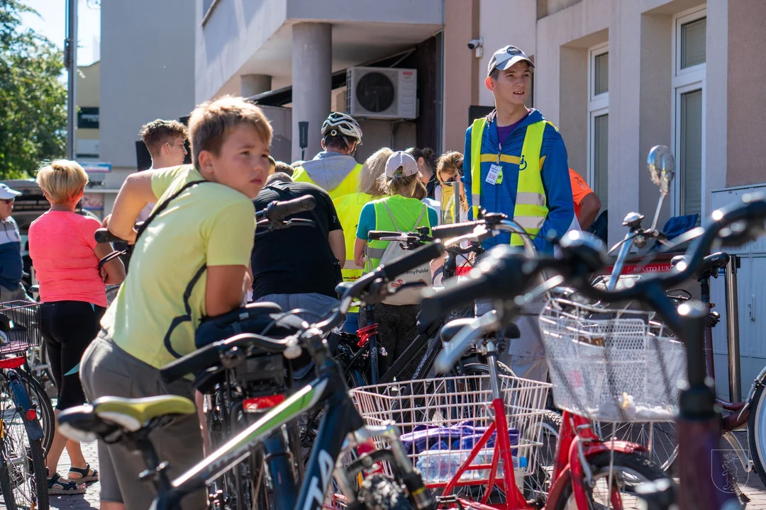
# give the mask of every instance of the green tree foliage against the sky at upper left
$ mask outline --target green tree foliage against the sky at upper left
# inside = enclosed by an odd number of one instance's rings
[[[66,154],[64,59],[51,41],[21,25],[37,13],[0,0],[0,178],[29,177],[45,159]]]

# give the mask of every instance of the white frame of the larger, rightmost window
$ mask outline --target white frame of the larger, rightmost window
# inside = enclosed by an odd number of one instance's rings
[[[702,91],[702,143],[701,143],[701,165],[700,168],[700,210],[699,219],[702,220],[707,215],[706,210],[706,190],[705,186],[705,138],[707,135],[707,129],[705,125],[706,118],[706,99],[707,91],[705,87],[705,72],[707,68],[707,52],[705,52],[705,62],[699,63],[696,66],[686,67],[681,69],[681,27],[684,24],[692,21],[697,21],[702,18],[707,18],[706,5],[700,5],[698,7],[689,9],[687,11],[680,12],[673,16],[673,80],[672,80],[672,95],[671,95],[671,112],[673,112],[672,129],[671,129],[671,148],[673,155],[676,157],[676,178],[673,179],[673,186],[670,193],[670,209],[673,216],[679,216],[683,213],[683,206],[685,203],[683,193],[683,175],[681,158],[681,96],[686,93],[694,92],[695,90]],[[707,44],[707,30],[705,29],[705,45]]]

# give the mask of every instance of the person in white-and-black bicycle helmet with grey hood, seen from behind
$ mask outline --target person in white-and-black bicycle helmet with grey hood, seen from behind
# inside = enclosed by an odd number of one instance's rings
[[[313,160],[304,161],[293,173],[293,181],[316,184],[335,202],[359,187],[362,165],[353,157],[362,145],[362,128],[351,115],[332,112],[322,123],[322,148]]]

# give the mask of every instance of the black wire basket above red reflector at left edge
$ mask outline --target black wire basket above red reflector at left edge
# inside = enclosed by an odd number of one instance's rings
[[[25,352],[41,344],[40,303],[0,303],[0,354]]]

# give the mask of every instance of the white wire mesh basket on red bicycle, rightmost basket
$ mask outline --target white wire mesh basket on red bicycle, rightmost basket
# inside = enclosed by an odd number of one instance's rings
[[[686,348],[655,313],[549,300],[539,325],[558,408],[597,421],[669,421]]]

